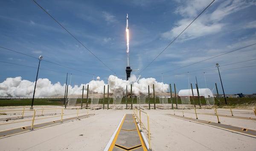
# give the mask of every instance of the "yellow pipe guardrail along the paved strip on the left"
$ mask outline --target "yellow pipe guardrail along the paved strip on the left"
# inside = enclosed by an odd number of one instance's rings
[[[61,120],[61,122],[63,122],[63,117],[64,116],[66,116],[66,117],[69,116],[68,118],[76,117],[78,119],[79,115],[87,115],[88,116],[90,110],[93,110],[93,114],[95,114],[95,108],[94,107],[93,108],[89,108],[89,107],[84,107],[84,108],[80,107],[79,108],[78,107],[78,108],[76,108],[76,112],[71,112],[71,113],[66,113],[66,114],[64,114],[64,111],[65,110],[71,110],[71,109],[69,109],[69,108],[64,109],[64,108],[44,108],[44,107],[42,107],[42,109],[31,110],[31,109],[26,109],[26,108],[27,107],[23,107],[23,110],[0,110],[0,115],[5,115],[5,118],[2,118],[2,120],[6,121],[6,123],[0,123],[0,126],[1,125],[9,125],[9,124],[14,124],[14,123],[19,123],[19,122],[32,121],[31,130],[33,130],[35,120],[61,117],[60,120]],[[86,111],[84,111],[82,109],[86,109]],[[8,116],[8,115],[21,115],[21,116]],[[24,115],[26,115],[26,116],[24,116]],[[72,116],[72,115],[75,115],[75,116]],[[45,116],[47,116],[47,117],[45,117]],[[0,118],[1,118],[1,116],[0,116]],[[15,122],[10,122],[14,119],[25,119],[25,118],[32,118],[32,119],[20,120],[20,121],[16,120]],[[50,120],[47,121],[47,122],[50,122]]]

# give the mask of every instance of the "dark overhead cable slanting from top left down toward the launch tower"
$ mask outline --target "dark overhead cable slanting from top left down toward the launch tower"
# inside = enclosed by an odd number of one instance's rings
[[[79,41],[73,34],[71,34],[64,26],[61,25],[61,23],[58,22],[58,20],[56,20],[54,17],[52,17],[52,15],[50,15],[42,6],[40,6],[35,0],[32,0],[33,2],[35,2],[41,9],[43,9],[44,12],[47,13],[47,15],[49,15],[56,23],[58,23],[69,35],[71,35],[76,41],[79,42],[79,44],[81,44],[85,49],[87,49],[88,52],[90,52],[96,59],[98,59],[100,62],[102,62],[102,64],[104,64],[105,67],[107,67],[109,70],[111,70],[113,73],[115,73],[110,67],[108,67],[100,58],[98,58],[96,55],[94,55],[94,53],[92,51],[90,51],[90,49],[88,49],[86,46],[84,46],[84,44],[81,43],[81,41]]]

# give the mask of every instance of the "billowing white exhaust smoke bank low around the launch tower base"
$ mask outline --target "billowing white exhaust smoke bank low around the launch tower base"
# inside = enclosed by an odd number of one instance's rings
[[[116,94],[116,97],[122,97],[126,94],[126,87],[128,93],[132,92],[135,95],[148,95],[148,85],[150,87],[150,93],[153,93],[153,84],[155,93],[165,93],[168,91],[168,84],[157,82],[154,78],[141,78],[137,81],[135,75],[131,75],[131,78],[126,81],[116,76],[109,76],[108,84],[105,84],[103,80],[97,77],[97,80],[90,81],[87,84],[81,84],[80,86],[75,85],[74,87],[69,86],[68,95],[81,95],[83,86],[84,94],[87,93],[87,85],[89,84],[89,93],[109,93]],[[35,97],[51,97],[51,96],[64,96],[65,86],[61,85],[60,82],[52,84],[47,78],[39,78],[36,84]],[[22,80],[21,77],[6,78],[5,81],[0,83],[0,97],[32,97],[34,92],[35,82],[28,80]]]

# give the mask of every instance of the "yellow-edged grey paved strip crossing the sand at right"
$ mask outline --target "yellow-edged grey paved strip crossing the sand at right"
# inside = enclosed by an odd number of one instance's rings
[[[242,135],[245,135],[245,136],[250,136],[250,137],[253,137],[253,138],[256,138],[256,135],[254,134],[250,134],[250,133],[243,133],[243,129],[246,129],[246,132],[248,132],[247,130],[250,130],[250,131],[253,131],[253,132],[256,132],[255,130],[251,130],[251,129],[247,129],[247,128],[240,128],[240,127],[236,127],[236,126],[232,126],[232,125],[225,125],[225,124],[221,124],[221,123],[215,123],[215,122],[210,122],[211,124],[218,124],[218,125],[222,125],[223,127],[221,126],[215,126],[215,125],[210,125],[210,124],[207,124],[209,122],[197,122],[196,120],[198,119],[193,119],[193,120],[190,120],[192,118],[187,118],[187,117],[184,117],[184,116],[178,116],[178,115],[172,115],[172,114],[164,114],[166,116],[172,116],[172,117],[175,117],[177,119],[183,119],[183,120],[186,120],[186,121],[189,121],[189,122],[195,122],[195,123],[198,123],[198,124],[202,124],[202,125],[207,125],[207,126],[211,126],[211,127],[214,127],[214,128],[219,128],[219,129],[222,129],[222,130],[225,130],[225,131],[230,131],[230,132],[233,132],[233,133],[237,133],[237,134],[242,134]],[[202,119],[200,119],[201,121],[204,121]],[[230,127],[233,127],[233,128],[239,128],[239,129],[229,129],[229,128],[224,128],[224,126],[230,126]],[[241,131],[241,132],[240,132]]]

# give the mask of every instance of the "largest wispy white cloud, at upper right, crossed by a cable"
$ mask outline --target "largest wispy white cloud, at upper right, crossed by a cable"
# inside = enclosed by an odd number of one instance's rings
[[[162,37],[168,40],[173,40],[179,35],[192,20],[207,6],[210,1],[193,0],[193,1],[181,1],[185,3],[184,6],[179,6],[175,13],[180,14],[184,18],[178,20],[176,26],[171,30],[164,32]],[[216,2],[217,3],[217,2]],[[214,4],[210,7],[214,7]],[[255,2],[247,2],[243,0],[225,0],[221,1],[220,5],[212,13],[204,12],[200,17],[193,22],[189,28],[182,33],[179,41],[187,41],[202,37],[205,35],[215,34],[221,31],[226,25],[224,17],[245,9],[251,5],[255,5]],[[255,24],[254,24],[255,25]],[[254,26],[251,23],[250,27]]]

